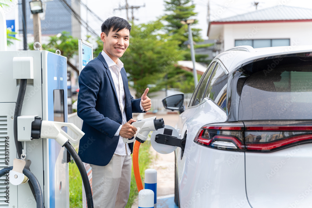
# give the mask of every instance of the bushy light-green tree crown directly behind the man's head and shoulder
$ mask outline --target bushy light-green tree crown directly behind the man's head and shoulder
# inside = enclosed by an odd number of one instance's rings
[[[163,88],[163,77],[175,69],[182,56],[178,51],[178,41],[168,34],[163,34],[161,21],[133,25],[130,33],[130,45],[121,61],[130,74],[128,80],[133,81],[133,88],[140,97],[147,85],[157,91]]]

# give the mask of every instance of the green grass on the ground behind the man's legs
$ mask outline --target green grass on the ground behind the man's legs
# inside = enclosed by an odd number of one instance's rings
[[[149,148],[151,146],[150,141],[146,141],[140,145],[139,151],[139,168],[142,182],[144,184],[144,172],[149,168],[152,161]],[[132,157],[132,155],[131,155]],[[138,196],[138,188],[135,183],[133,167],[131,171],[131,183],[130,183],[130,196],[127,206],[125,208],[131,208],[134,199]],[[69,163],[69,207],[80,208],[82,207],[82,181],[79,170],[76,164]]]

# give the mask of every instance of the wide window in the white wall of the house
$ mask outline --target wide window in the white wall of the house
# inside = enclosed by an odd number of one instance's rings
[[[252,46],[253,48],[290,46],[290,39],[235,40],[235,46]]]

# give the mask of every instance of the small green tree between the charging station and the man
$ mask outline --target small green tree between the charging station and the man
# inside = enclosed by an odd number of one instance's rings
[[[33,43],[28,47],[33,50]],[[67,64],[76,71],[79,76],[79,70],[71,62],[71,58],[78,54],[78,38],[69,35],[69,32],[63,31],[61,35],[50,36],[48,44],[42,44],[42,48],[46,51],[55,53],[56,50],[61,51],[61,55],[67,57]]]

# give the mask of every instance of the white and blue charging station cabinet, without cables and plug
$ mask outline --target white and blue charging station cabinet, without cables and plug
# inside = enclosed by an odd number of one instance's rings
[[[21,115],[38,115],[43,120],[67,122],[66,57],[49,51],[0,51],[0,169],[12,166],[17,152],[14,143],[14,109],[20,79],[27,79]],[[15,60],[15,61],[14,61]],[[24,65],[25,64],[25,65]],[[66,129],[64,129],[66,130]],[[5,163],[5,138],[10,139],[9,163]],[[26,158],[32,161],[44,195],[46,208],[69,207],[67,151],[51,139],[22,142]],[[3,177],[2,177],[3,178]],[[0,182],[3,179],[0,178]],[[5,181],[4,181],[5,182]],[[9,203],[4,201],[6,187],[0,184],[0,208],[35,208],[29,185],[9,186]]]

